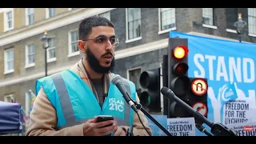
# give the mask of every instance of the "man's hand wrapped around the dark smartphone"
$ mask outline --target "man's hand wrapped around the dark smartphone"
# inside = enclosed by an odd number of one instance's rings
[[[97,117],[93,119],[89,119],[83,125],[83,134],[84,136],[103,136],[108,135],[118,129],[118,125],[113,120],[105,121],[105,122],[96,122]],[[111,126],[106,126],[110,125]],[[106,127],[102,127],[106,126]]]

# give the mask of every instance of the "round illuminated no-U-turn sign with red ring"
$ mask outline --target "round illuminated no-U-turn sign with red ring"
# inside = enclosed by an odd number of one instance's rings
[[[194,94],[202,96],[207,93],[208,85],[206,80],[202,78],[194,78],[191,82],[191,90]]]

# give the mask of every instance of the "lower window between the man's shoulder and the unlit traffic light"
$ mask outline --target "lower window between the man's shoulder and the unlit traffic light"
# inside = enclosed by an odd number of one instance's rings
[[[141,68],[134,68],[132,70],[128,70],[128,79],[131,81],[131,82],[134,82],[134,85],[136,86],[136,91],[138,93],[138,95],[141,94],[141,86],[140,86],[140,83],[139,83],[139,77],[142,73],[142,69]]]

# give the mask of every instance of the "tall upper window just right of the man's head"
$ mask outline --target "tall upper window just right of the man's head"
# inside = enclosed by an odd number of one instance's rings
[[[141,9],[140,8],[127,8],[127,26],[128,26],[128,39],[141,37]]]

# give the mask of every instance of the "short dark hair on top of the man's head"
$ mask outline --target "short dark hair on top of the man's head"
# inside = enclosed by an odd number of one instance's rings
[[[82,40],[88,38],[94,26],[111,26],[114,28],[114,24],[107,18],[100,16],[85,18],[79,25],[79,39]]]

